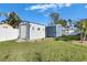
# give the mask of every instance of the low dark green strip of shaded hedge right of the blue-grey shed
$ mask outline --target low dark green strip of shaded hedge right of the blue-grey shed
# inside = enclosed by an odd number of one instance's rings
[[[62,40],[62,41],[72,41],[72,40],[80,40],[80,35],[64,35],[64,36],[59,36],[59,37],[56,37],[55,39],[56,41],[57,40]]]

